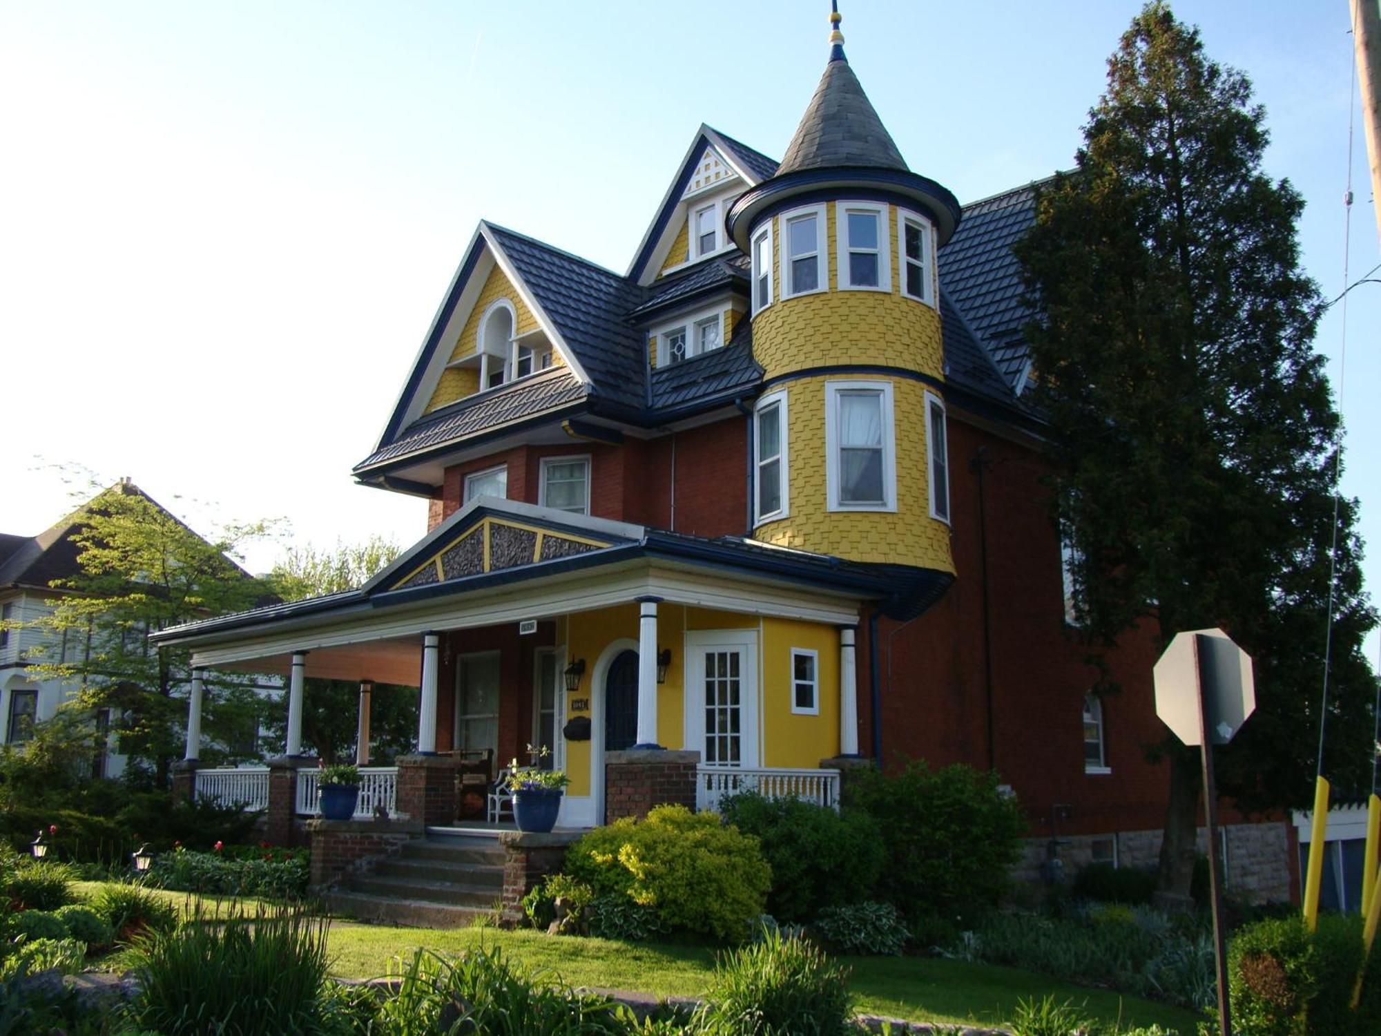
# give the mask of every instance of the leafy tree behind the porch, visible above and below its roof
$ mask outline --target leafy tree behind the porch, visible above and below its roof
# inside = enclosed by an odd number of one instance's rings
[[[387,568],[399,547],[378,535],[365,543],[336,543],[333,550],[308,544],[294,547],[269,579],[286,601],[354,590]],[[302,695],[302,743],[327,762],[349,758],[355,750],[359,718],[359,684],[309,677]],[[377,684],[370,696],[370,761],[384,762],[412,750],[417,738],[417,688]],[[271,728],[278,736],[287,717],[276,714]]]

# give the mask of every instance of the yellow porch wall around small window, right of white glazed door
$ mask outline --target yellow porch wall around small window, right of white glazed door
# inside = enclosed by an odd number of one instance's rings
[[[819,716],[791,711],[791,648],[816,652]],[[762,620],[762,765],[815,769],[840,754],[840,634],[833,626]]]

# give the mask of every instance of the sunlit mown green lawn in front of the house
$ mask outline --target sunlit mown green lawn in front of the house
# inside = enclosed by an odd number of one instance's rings
[[[84,895],[93,895],[99,887],[94,881],[79,884]],[[159,895],[184,910],[199,902],[203,916],[229,906],[229,901],[199,899],[185,892]],[[354,921],[336,921],[330,931],[333,970],[342,978],[384,975],[394,957],[409,957],[418,948],[460,953],[481,942],[497,945],[508,957],[548,970],[574,986],[697,996],[714,971],[714,950],[693,945],[626,943],[530,930],[391,928]],[[110,959],[116,968],[122,963],[120,956]],[[1069,985],[1016,968],[931,957],[845,957],[844,963],[852,970],[849,986],[858,996],[859,1010],[913,1021],[1000,1024],[1011,1017],[1018,1000],[1047,993],[1083,1004],[1087,1014],[1102,1021],[1120,1019],[1124,1026],[1159,1024],[1189,1036],[1199,1019],[1192,1011],[1153,1000]]]

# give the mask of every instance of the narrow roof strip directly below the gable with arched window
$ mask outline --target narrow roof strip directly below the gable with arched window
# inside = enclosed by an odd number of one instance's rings
[[[417,419],[394,442],[356,464],[355,470],[554,410],[584,399],[587,392],[587,387],[566,367],[552,367],[533,377],[510,381]]]

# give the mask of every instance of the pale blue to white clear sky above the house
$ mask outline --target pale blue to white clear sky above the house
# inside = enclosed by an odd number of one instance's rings
[[[974,200],[1068,167],[1137,0],[841,0],[911,169]],[[1181,0],[1268,109],[1344,286],[1346,0]],[[479,218],[615,269],[707,122],[779,156],[823,69],[824,0],[0,0],[0,530],[68,506],[50,464],[130,475],[193,525],[297,541],[425,504],[356,486]],[[1360,112],[1352,279],[1381,261]],[[1381,286],[1351,296],[1346,493],[1381,587]],[[1340,387],[1341,307],[1317,348]],[[181,497],[181,500],[178,500]],[[279,544],[250,555],[268,568]],[[1373,659],[1375,646],[1373,641]]]

